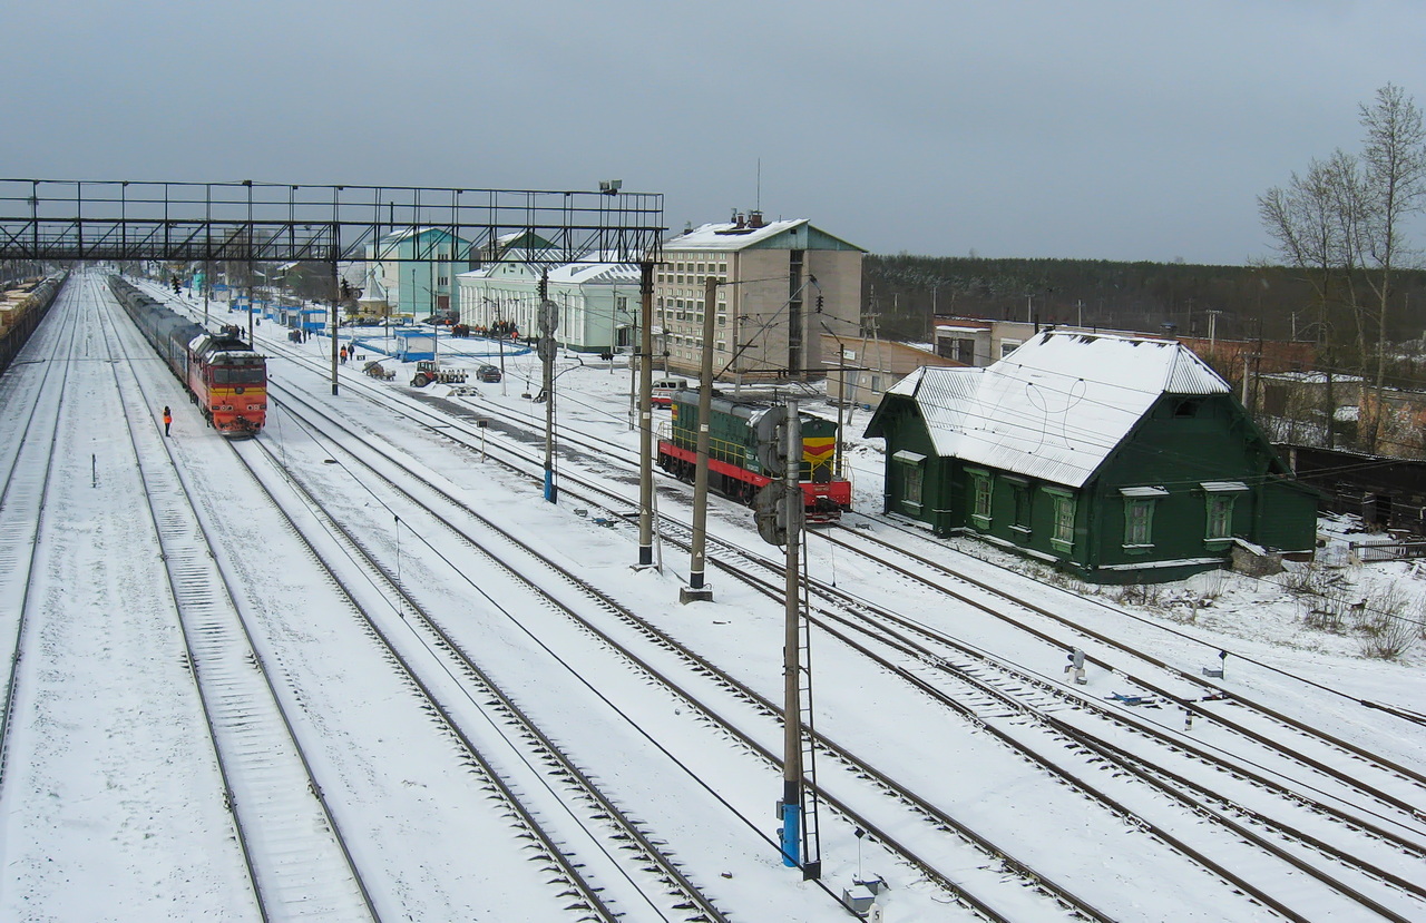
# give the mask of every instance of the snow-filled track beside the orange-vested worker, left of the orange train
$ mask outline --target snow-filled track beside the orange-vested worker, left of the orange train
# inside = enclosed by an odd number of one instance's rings
[[[103,313],[100,315],[104,316]],[[111,320],[106,320],[113,329]],[[114,330],[113,342],[118,342]],[[264,920],[379,920],[308,753],[255,650],[237,594],[168,440],[130,407],[144,393],[130,356],[111,363],[185,661]],[[120,366],[123,365],[123,370]]]

